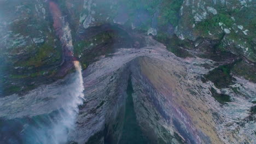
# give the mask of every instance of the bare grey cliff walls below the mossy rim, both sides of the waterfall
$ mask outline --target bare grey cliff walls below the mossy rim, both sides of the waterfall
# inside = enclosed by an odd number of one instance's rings
[[[83,71],[85,100],[78,115],[72,115],[76,116],[74,128],[68,127],[62,135],[68,143],[130,143],[129,137],[133,143],[253,142],[254,83],[236,77],[230,87],[217,88],[203,78],[216,62],[179,58],[152,38],[145,41],[146,47],[119,49]],[[59,128],[55,122],[67,124],[61,120],[71,116],[65,107],[73,104],[69,101],[80,91],[73,91],[80,87],[72,78],[76,76],[68,77],[20,98],[1,98],[3,140],[19,137],[29,142],[26,135],[42,133],[34,127],[47,130],[48,124],[53,128]],[[13,124],[19,129],[4,132]]]

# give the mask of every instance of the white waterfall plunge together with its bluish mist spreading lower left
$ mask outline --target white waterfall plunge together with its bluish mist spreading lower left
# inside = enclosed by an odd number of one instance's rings
[[[22,139],[24,143],[61,144],[67,142],[68,133],[75,127],[78,106],[83,104],[82,68],[78,61],[74,61],[75,73],[71,74],[63,85],[46,92],[57,97],[49,104],[60,107],[48,115],[32,117],[32,122],[24,124]]]

